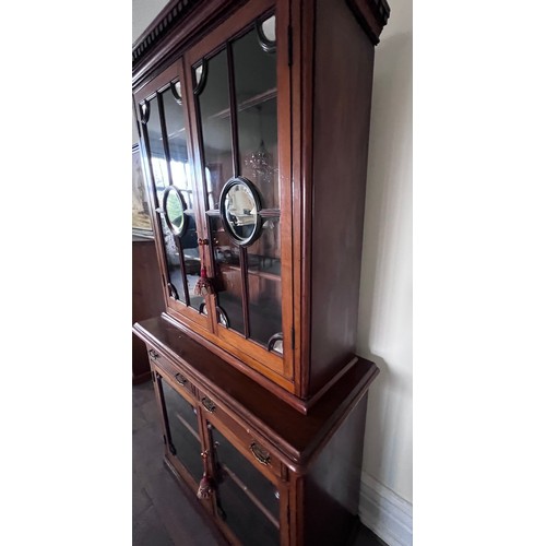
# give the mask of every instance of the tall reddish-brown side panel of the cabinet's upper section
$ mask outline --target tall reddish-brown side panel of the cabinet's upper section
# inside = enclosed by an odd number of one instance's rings
[[[356,346],[372,72],[346,3],[317,0],[310,394]]]

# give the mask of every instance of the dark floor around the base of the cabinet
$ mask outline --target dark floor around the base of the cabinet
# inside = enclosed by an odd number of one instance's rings
[[[207,522],[195,496],[181,487],[163,463],[152,381],[133,385],[133,546],[205,545],[227,543]],[[363,526],[351,546],[387,545]]]

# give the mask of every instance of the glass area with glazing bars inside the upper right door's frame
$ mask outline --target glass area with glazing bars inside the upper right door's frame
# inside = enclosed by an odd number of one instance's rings
[[[256,23],[192,70],[218,322],[268,348],[283,331],[276,54]]]

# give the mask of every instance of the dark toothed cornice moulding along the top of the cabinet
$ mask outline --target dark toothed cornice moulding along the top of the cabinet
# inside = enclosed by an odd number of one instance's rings
[[[342,0],[340,0],[342,1]],[[389,20],[385,0],[345,0],[373,45]],[[181,49],[199,39],[205,27],[226,19],[245,0],[171,0],[132,47],[133,87],[150,69],[167,66]]]

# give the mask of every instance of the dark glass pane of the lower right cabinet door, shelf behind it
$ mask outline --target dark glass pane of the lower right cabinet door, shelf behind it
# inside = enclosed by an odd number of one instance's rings
[[[207,424],[214,447],[216,511],[242,545],[278,545],[280,494],[217,428]]]

